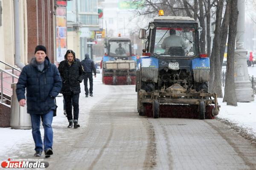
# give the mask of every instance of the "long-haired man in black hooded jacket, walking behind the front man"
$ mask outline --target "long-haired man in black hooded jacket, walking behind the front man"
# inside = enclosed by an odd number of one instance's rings
[[[61,74],[62,88],[61,93],[64,96],[68,128],[80,127],[78,124],[79,116],[79,94],[81,93],[80,83],[84,79],[84,70],[81,62],[76,60],[74,51],[67,50],[65,60],[61,61],[58,70]],[[72,115],[73,105],[73,115]]]

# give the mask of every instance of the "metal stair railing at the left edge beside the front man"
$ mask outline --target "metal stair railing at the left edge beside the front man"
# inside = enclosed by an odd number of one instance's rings
[[[3,82],[6,82],[9,85],[11,85],[12,83],[15,82],[14,81],[15,79],[19,79],[19,77],[15,75],[15,70],[19,71],[19,72],[21,72],[21,70],[19,68],[15,68],[12,65],[7,64],[6,62],[3,62],[3,61],[0,61],[0,62],[5,64],[5,65],[7,65],[7,66],[9,66],[10,68],[12,68],[12,73],[10,73],[9,71],[6,71],[6,70],[0,68],[0,74],[1,74],[1,77],[0,77],[0,82],[1,82],[1,87],[0,87],[1,88],[1,100],[0,100],[0,102],[3,103],[4,100],[8,100],[9,102],[11,102],[9,99],[7,99],[4,96],[3,91],[7,91],[10,94],[12,94],[12,91],[10,91],[8,88],[4,87]],[[3,73],[6,73],[6,74],[10,75],[12,77],[12,82],[8,82],[7,80],[3,79]]]

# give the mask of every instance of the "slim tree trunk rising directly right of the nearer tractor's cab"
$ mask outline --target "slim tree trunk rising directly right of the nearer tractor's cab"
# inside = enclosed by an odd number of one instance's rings
[[[204,22],[204,3],[203,0],[198,0],[199,3],[199,22],[200,26],[203,28],[201,33],[201,43],[200,43],[200,49],[201,54],[205,54],[205,22]]]

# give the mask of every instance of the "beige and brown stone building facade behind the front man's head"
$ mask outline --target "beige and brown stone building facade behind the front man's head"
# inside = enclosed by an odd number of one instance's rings
[[[17,9],[14,10],[15,4]],[[0,0],[0,60],[15,65],[15,41],[20,41],[20,62],[28,64],[34,57],[35,46],[45,45],[47,56],[55,61],[55,0]],[[15,13],[18,12],[18,15]],[[14,20],[18,16],[19,25]],[[19,39],[15,40],[15,28]],[[16,31],[17,32],[17,31]],[[6,66],[1,65],[1,68]]]

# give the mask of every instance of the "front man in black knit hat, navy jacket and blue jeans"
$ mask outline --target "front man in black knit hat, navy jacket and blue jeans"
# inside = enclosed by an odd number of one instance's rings
[[[57,67],[49,62],[46,48],[43,45],[36,46],[35,58],[32,58],[30,64],[22,69],[16,88],[20,106],[27,103],[27,113],[31,116],[35,156],[41,156],[43,151],[40,133],[41,116],[44,125],[45,157],[53,154],[52,117],[56,109],[55,97],[60,91],[61,77]]]

